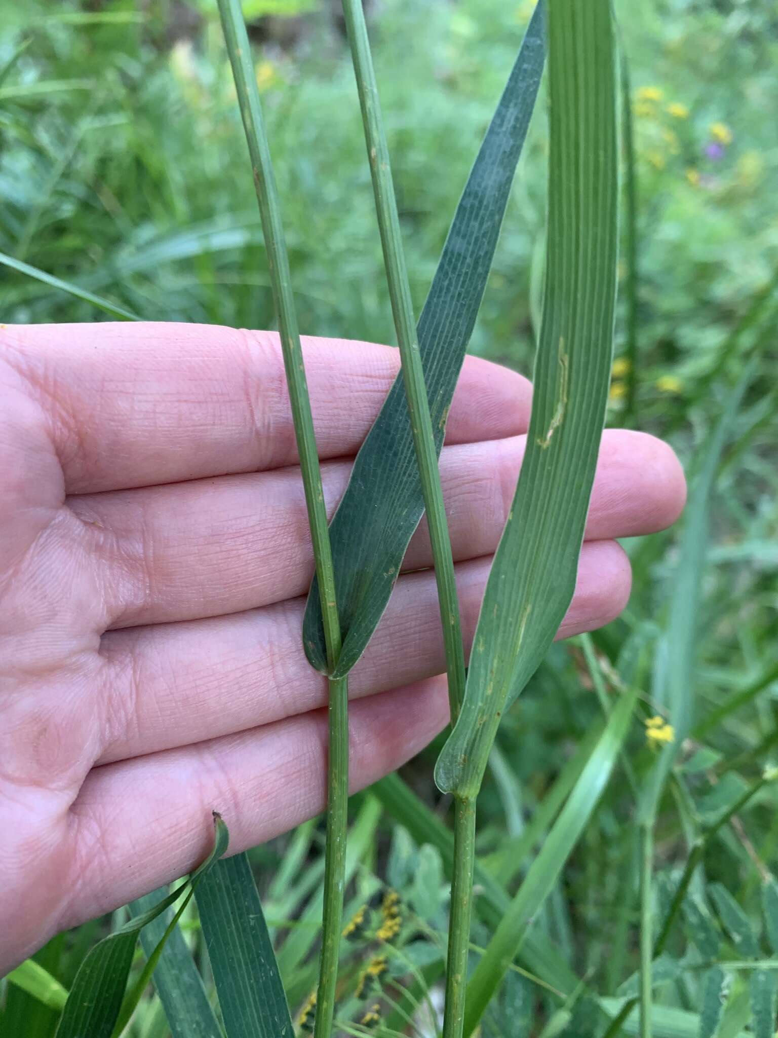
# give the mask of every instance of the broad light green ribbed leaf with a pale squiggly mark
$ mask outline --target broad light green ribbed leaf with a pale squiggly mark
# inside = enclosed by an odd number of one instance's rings
[[[534,674],[576,586],[610,381],[618,148],[608,0],[553,0],[549,217],[532,415],[487,583],[441,790],[477,795],[508,703]]]

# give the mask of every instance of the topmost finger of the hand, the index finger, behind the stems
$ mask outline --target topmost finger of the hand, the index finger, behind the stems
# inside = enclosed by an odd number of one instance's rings
[[[212,325],[7,325],[2,355],[51,421],[67,493],[249,472],[297,460],[278,335]],[[303,336],[322,458],[356,454],[398,367],[397,351]],[[529,382],[466,358],[450,443],[526,432]]]

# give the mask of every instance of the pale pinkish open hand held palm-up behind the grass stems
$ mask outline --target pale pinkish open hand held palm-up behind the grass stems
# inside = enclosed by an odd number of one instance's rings
[[[303,340],[330,514],[396,351]],[[261,843],[325,802],[326,682],[277,337],[176,324],[0,328],[0,975],[59,930]],[[441,474],[466,638],[521,464],[526,379],[468,358]],[[603,438],[560,637],[618,614],[617,538],[685,499],[671,449]],[[351,788],[447,721],[422,527],[351,681]],[[417,571],[417,572],[412,572]],[[432,782],[432,778],[430,778]]]

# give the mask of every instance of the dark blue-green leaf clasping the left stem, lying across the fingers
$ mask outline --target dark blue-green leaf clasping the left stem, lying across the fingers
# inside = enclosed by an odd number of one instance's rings
[[[543,5],[527,28],[492,124],[456,208],[418,323],[438,452],[448,408],[475,324],[543,72]],[[335,676],[364,652],[423,513],[411,425],[398,375],[367,435],[330,526],[343,645]],[[311,664],[327,671],[322,611],[314,580],[303,625]]]

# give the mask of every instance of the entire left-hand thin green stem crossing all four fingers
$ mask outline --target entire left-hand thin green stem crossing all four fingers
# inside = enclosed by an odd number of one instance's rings
[[[332,672],[340,655],[340,623],[335,599],[335,574],[332,565],[327,510],[322,489],[318,452],[313,432],[305,365],[300,347],[300,332],[291,293],[286,243],[281,225],[278,192],[240,0],[219,0],[219,12],[235,80],[241,116],[251,156],[256,197],[261,214],[265,247],[271,273],[273,300],[278,315],[278,330],[318,578],[327,662]],[[331,680],[329,682],[330,742],[327,775],[328,814],[325,852],[324,935],[315,1025],[317,1038],[321,1035],[329,1035],[332,1030],[337,960],[342,928],[349,796],[348,704],[348,678]]]

